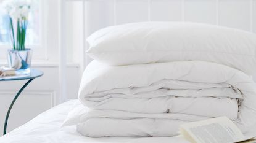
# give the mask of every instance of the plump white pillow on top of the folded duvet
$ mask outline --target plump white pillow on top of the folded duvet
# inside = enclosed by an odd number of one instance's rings
[[[256,72],[256,35],[202,23],[110,26],[88,37],[88,55],[109,65],[202,60]]]

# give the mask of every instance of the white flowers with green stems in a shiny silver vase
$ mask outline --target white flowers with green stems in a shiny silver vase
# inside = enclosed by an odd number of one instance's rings
[[[5,0],[2,6],[9,15],[10,39],[12,49],[8,50],[10,68],[30,72],[32,50],[26,48],[25,39],[28,26],[28,15],[31,12],[30,0]]]

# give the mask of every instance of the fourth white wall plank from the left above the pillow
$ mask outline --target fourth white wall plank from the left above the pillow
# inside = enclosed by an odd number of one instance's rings
[[[216,24],[216,0],[184,0],[184,21]]]

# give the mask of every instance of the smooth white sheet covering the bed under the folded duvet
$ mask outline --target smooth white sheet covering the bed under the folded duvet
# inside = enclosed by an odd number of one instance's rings
[[[0,143],[188,143],[180,137],[85,137],[76,132],[76,126],[60,128],[68,112],[80,104],[78,100],[71,100],[60,104],[20,126],[14,131],[0,137]]]

